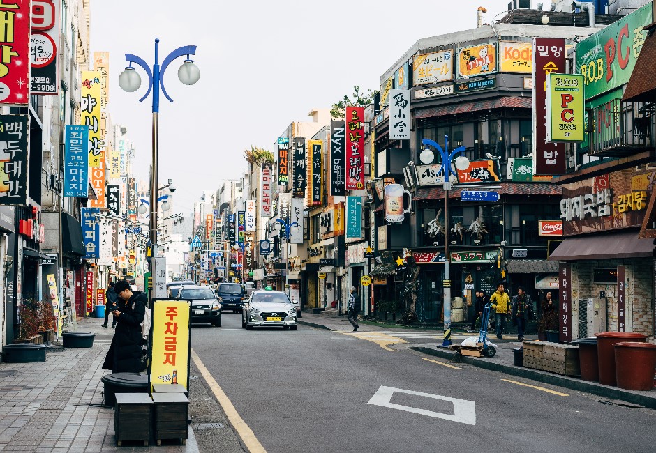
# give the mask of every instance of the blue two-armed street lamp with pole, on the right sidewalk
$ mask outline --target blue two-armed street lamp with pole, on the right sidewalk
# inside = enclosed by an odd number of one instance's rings
[[[469,167],[469,159],[464,155],[459,155],[465,152],[464,146],[459,146],[449,153],[449,137],[444,136],[445,147],[442,147],[433,140],[422,139],[422,144],[424,146],[432,146],[437,151],[439,151],[440,156],[442,157],[442,166],[438,174],[442,173],[444,175],[444,183],[442,188],[444,189],[444,282],[442,286],[444,288],[444,339],[442,340],[442,346],[451,346],[451,280],[449,279],[449,262],[451,257],[449,256],[449,190],[451,190],[451,181],[449,181],[449,175],[458,176],[454,169],[451,167],[451,162],[454,158],[456,160],[456,169],[466,170]],[[426,151],[424,151],[426,152]],[[459,155],[456,158],[456,155]],[[427,162],[424,162],[427,163]]]

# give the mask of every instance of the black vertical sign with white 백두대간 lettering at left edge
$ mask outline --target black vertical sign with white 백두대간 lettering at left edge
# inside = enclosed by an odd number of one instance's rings
[[[28,132],[27,115],[0,115],[0,204],[2,205],[27,206]]]

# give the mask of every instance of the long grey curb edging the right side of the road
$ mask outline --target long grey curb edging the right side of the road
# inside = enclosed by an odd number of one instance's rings
[[[512,376],[519,376],[521,378],[532,379],[533,381],[558,385],[560,387],[568,388],[569,390],[591,393],[599,397],[618,399],[620,401],[626,401],[627,403],[637,404],[639,406],[644,406],[650,409],[656,409],[656,392],[654,392],[654,396],[636,394],[617,387],[610,387],[608,385],[592,383],[589,381],[581,381],[576,378],[568,378],[567,376],[551,374],[536,369],[515,367],[514,365],[490,362],[489,360],[468,357],[461,354],[448,351],[440,351],[433,348],[426,348],[425,346],[415,346],[410,347],[410,349],[414,349],[415,351],[419,351],[424,354],[454,360],[454,362],[470,364],[474,367],[489,369],[491,371],[500,371],[501,373],[510,374]]]

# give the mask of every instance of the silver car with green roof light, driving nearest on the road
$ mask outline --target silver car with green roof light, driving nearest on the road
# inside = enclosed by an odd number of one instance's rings
[[[297,309],[283,291],[253,291],[241,313],[241,327],[247,330],[254,326],[280,326],[296,330]]]

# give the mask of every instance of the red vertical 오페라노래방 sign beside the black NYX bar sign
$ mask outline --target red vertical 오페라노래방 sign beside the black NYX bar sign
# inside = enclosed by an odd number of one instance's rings
[[[346,107],[346,190],[364,189],[364,107]]]

